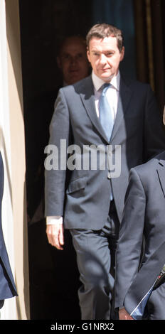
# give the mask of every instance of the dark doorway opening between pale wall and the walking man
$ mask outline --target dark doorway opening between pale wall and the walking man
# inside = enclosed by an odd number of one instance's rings
[[[63,85],[58,45],[65,36],[85,36],[90,16],[90,1],[20,1],[31,319],[80,319],[70,234],[65,232],[63,252],[46,237],[43,163],[55,98]]]

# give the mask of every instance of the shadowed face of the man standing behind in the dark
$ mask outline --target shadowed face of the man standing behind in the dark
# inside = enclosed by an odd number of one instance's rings
[[[87,61],[86,46],[80,38],[68,38],[60,51],[58,66],[63,72],[63,80],[67,85],[87,77],[89,63]]]

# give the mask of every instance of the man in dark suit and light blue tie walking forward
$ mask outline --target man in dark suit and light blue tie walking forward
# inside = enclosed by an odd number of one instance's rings
[[[111,314],[115,250],[129,169],[163,151],[165,137],[149,85],[119,73],[122,32],[105,23],[93,26],[87,34],[87,57],[92,75],[60,90],[50,124],[46,151],[51,154],[45,163],[47,235],[58,249],[63,249],[63,225],[73,237],[82,282],[78,291],[82,319],[110,319],[115,317]],[[67,161],[63,143],[68,153],[75,148],[77,156],[71,157],[75,168],[70,156]],[[84,163],[87,147],[100,148],[101,165],[105,149],[105,168],[100,167],[98,154],[95,166]],[[58,156],[62,168],[57,166]],[[117,160],[115,169],[121,158],[118,175],[110,167],[112,157]]]

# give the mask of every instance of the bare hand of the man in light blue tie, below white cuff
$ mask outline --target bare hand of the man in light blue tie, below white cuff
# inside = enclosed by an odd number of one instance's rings
[[[47,225],[46,234],[48,242],[57,249],[63,250],[64,235],[63,224]]]

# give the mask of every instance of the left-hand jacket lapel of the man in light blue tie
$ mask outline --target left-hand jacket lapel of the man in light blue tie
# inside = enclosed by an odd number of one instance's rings
[[[82,83],[80,97],[82,99],[82,103],[84,104],[84,107],[86,109],[88,116],[90,117],[92,124],[95,126],[97,131],[99,131],[99,133],[102,135],[105,141],[107,141],[107,136],[105,135],[105,131],[104,129],[102,129],[102,125],[96,114],[95,96],[94,96],[91,76],[88,77],[87,80],[85,80],[85,85]],[[107,143],[109,144],[108,141]]]

